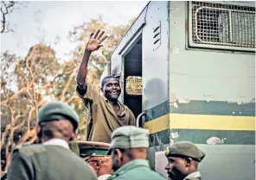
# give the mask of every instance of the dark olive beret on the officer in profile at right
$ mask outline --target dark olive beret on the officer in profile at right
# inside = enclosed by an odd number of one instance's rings
[[[165,155],[169,157],[192,158],[198,162],[202,161],[205,153],[189,141],[179,141],[168,146]]]

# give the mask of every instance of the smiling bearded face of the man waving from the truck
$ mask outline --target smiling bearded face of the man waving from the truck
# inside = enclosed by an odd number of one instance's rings
[[[108,78],[102,87],[104,96],[110,101],[117,101],[121,93],[121,87],[117,78]]]

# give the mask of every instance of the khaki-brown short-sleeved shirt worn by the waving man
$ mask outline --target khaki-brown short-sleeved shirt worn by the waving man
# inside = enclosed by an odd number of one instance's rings
[[[135,126],[136,119],[131,109],[124,104],[118,102],[120,111],[116,115],[106,97],[100,95],[91,85],[88,84],[86,90],[77,86],[77,92],[88,109],[86,140],[110,143],[111,133],[116,128]]]

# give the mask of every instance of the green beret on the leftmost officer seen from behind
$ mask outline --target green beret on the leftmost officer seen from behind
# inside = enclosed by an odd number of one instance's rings
[[[79,125],[79,116],[75,110],[65,102],[49,102],[38,112],[38,122],[69,120],[74,125],[74,130]]]

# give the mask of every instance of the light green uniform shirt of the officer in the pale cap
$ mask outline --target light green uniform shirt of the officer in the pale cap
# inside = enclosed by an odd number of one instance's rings
[[[115,171],[107,180],[165,180],[157,172],[150,170],[147,160],[135,159]]]

